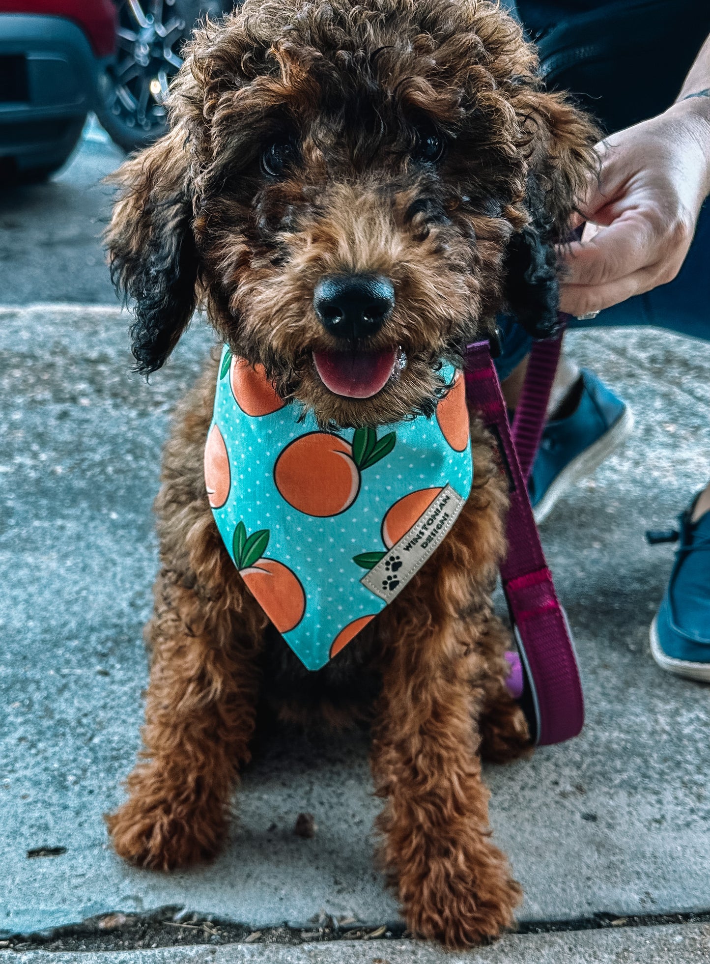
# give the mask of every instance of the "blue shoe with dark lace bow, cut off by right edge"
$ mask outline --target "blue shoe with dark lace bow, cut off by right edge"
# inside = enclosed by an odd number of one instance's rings
[[[651,655],[669,673],[710,683],[710,512],[691,522],[697,497],[678,517],[678,532],[646,533],[651,543],[679,543],[651,623]]]

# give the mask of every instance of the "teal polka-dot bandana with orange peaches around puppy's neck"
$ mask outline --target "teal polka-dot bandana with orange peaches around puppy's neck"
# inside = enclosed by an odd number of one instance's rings
[[[471,491],[464,379],[451,366],[442,375],[453,387],[436,417],[323,432],[261,365],[222,353],[209,504],[239,574],[308,669],[395,599]]]

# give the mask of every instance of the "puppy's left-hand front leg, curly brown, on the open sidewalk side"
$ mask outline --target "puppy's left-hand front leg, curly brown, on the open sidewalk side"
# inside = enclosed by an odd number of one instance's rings
[[[213,856],[225,837],[254,731],[259,637],[166,575],[155,597],[145,762],[128,777],[128,800],[106,819],[120,856],[169,870]]]

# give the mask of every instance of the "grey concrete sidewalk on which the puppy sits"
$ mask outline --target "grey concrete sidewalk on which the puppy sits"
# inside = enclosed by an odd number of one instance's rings
[[[363,736],[272,740],[245,775],[232,842],[211,866],[149,873],[126,867],[108,847],[101,815],[122,799],[139,745],[160,445],[210,341],[196,324],[149,387],[129,372],[126,326],[110,308],[0,308],[0,412],[10,425],[0,451],[0,933],[164,906],[255,929],[307,925],[321,911],[395,922],[396,903],[371,863],[379,804]],[[648,654],[672,549],[647,547],[643,530],[672,523],[710,474],[710,350],[648,331],[576,334],[569,344],[631,402],[637,430],[543,527],[576,634],[587,726],[532,761],[488,768],[495,837],[525,887],[523,921],[707,910],[709,694],[662,673]],[[292,834],[302,811],[315,816],[313,840]],[[584,956],[584,941],[633,943],[651,929],[584,932],[578,956],[563,959],[615,959],[596,950]],[[659,929],[663,941],[673,932]],[[679,947],[691,934],[707,956],[703,926],[678,930]],[[577,938],[506,940],[511,949],[516,941],[554,948]],[[395,941],[384,943],[376,953],[369,944],[367,953],[353,951],[366,956],[332,959],[405,959]],[[248,947],[140,959],[266,959]],[[505,958],[501,947],[477,960],[562,959],[547,950]],[[12,960],[48,960],[38,953]],[[331,959],[306,946],[279,953],[268,959]],[[639,953],[618,959],[701,959]],[[73,959],[52,954],[57,964]]]

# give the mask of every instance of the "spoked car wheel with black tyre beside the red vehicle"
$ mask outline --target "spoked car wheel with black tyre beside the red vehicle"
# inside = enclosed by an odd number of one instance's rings
[[[146,147],[167,129],[164,106],[180,51],[202,13],[221,4],[198,0],[116,0],[117,53],[99,79],[98,120],[125,150]]]

